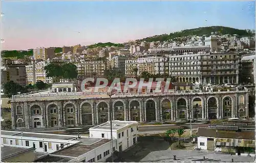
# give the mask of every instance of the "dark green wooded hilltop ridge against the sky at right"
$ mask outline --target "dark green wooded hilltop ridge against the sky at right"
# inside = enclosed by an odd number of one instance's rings
[[[222,35],[237,34],[239,36],[251,36],[251,33],[247,32],[246,30],[239,30],[239,29],[229,28],[229,27],[226,27],[226,26],[206,26],[206,27],[201,27],[201,28],[196,28],[196,29],[174,32],[174,33],[170,33],[169,35],[163,34],[163,35],[147,37],[147,38],[143,38],[143,39],[136,40],[136,41],[147,41],[147,42],[167,41],[167,40],[170,40],[170,39],[175,39],[175,38],[178,38],[178,37],[184,37],[184,36],[189,36],[189,35],[197,35],[197,36],[206,35],[206,36],[209,36],[211,34],[211,32],[218,32],[219,34],[222,34]]]

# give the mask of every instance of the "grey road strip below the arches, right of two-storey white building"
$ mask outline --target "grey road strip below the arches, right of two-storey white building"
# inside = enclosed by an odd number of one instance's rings
[[[190,128],[190,125],[181,125],[181,126],[185,126],[187,127],[187,129]],[[192,128],[196,129],[198,127],[208,127],[209,124],[192,124]],[[166,131],[168,129],[172,129],[172,128],[179,128],[178,125],[144,125],[144,126],[139,126],[139,132],[152,132],[152,131]]]

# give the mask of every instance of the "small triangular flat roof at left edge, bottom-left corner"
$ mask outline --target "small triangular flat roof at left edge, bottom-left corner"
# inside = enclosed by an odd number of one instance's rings
[[[26,147],[13,147],[13,146],[1,146],[1,160],[9,158],[11,156],[15,156],[18,154],[22,154],[23,152],[33,150],[33,148]]]

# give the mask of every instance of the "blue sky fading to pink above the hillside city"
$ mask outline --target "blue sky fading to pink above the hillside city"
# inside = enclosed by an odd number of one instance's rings
[[[253,1],[2,1],[1,12],[2,50],[123,43],[212,25],[255,29]]]

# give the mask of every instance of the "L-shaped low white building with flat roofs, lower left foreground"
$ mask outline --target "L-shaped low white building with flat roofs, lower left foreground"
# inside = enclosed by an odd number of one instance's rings
[[[104,162],[111,156],[111,141],[104,138],[2,130],[1,144],[34,148],[42,155],[37,162]],[[114,150],[116,144],[114,139]]]

